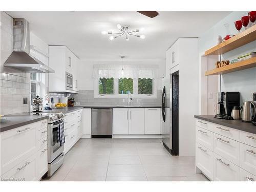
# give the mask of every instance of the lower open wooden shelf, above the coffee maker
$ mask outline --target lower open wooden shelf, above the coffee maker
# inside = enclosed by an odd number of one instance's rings
[[[250,59],[246,59],[246,60],[239,61],[239,62],[236,62],[233,64],[229,64],[229,65],[221,67],[221,68],[206,71],[204,74],[205,74],[205,76],[219,75],[219,74],[225,74],[225,73],[230,73],[230,72],[234,72],[234,71],[240,71],[240,70],[248,69],[248,68],[252,68],[252,67],[256,67],[256,57],[252,57]]]

